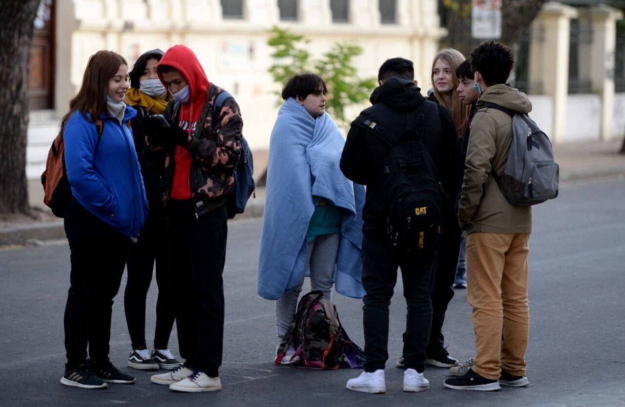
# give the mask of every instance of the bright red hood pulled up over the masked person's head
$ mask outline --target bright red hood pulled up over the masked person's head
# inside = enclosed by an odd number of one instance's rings
[[[196,54],[189,47],[179,44],[169,48],[158,64],[158,66],[162,65],[171,66],[180,71],[189,85],[189,101],[194,101],[197,97],[204,96],[206,91],[208,91],[210,82],[197,60]],[[163,82],[163,75],[160,72],[158,77]]]

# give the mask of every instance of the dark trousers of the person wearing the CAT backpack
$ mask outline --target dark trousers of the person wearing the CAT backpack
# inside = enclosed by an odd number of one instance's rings
[[[420,261],[397,262],[384,243],[362,238],[362,285],[366,292],[362,306],[365,371],[384,369],[388,359],[389,305],[397,282],[397,267],[401,268],[408,308],[404,367],[424,370],[432,320],[432,256],[425,255]]]

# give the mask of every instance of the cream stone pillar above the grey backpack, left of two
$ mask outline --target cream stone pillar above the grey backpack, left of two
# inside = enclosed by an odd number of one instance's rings
[[[541,32],[539,39],[532,39],[530,47],[530,72],[532,78],[529,93],[545,94],[553,100],[553,125],[547,134],[552,142],[562,142],[566,131],[566,105],[569,79],[569,40],[571,19],[577,10],[557,2],[547,2],[536,17],[534,32]],[[534,78],[540,78],[537,86]],[[547,130],[549,131],[549,130]]]

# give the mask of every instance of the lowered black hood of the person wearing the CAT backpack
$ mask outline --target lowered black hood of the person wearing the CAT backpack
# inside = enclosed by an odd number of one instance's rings
[[[424,100],[421,89],[413,81],[399,76],[388,77],[384,84],[374,89],[369,98],[371,104],[383,103],[399,112],[414,110]]]

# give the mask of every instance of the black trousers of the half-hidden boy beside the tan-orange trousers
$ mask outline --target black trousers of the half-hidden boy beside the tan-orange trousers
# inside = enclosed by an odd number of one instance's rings
[[[434,289],[432,290],[432,329],[427,345],[427,356],[436,356],[444,347],[442,324],[445,321],[447,305],[454,297],[454,280],[460,253],[461,230],[454,217],[447,225],[441,247],[434,260]]]

